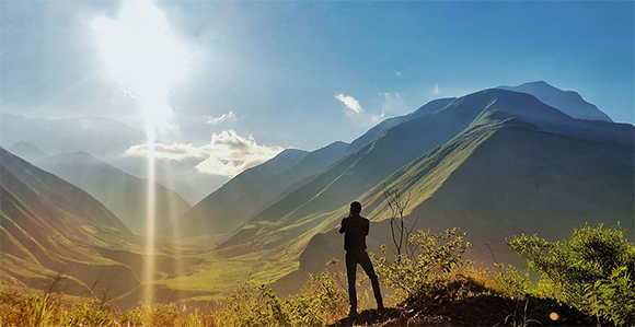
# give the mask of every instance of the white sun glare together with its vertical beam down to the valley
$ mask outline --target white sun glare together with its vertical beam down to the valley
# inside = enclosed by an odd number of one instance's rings
[[[153,302],[155,254],[155,129],[171,115],[169,91],[184,72],[185,50],[168,20],[151,0],[127,0],[116,20],[99,17],[92,31],[109,72],[130,87],[138,100],[148,142],[148,195],[146,211],[143,297]],[[176,258],[180,260],[181,258]]]

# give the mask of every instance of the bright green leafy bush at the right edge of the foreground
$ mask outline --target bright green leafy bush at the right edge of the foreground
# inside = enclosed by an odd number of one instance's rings
[[[541,295],[616,325],[635,325],[635,245],[624,238],[619,224],[610,230],[585,224],[570,241],[522,235],[507,245],[541,273]]]

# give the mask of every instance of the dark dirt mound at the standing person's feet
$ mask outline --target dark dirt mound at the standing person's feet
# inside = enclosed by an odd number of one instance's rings
[[[600,322],[604,325],[603,322]],[[477,294],[413,296],[397,307],[363,311],[332,326],[597,326],[598,320],[554,300]]]

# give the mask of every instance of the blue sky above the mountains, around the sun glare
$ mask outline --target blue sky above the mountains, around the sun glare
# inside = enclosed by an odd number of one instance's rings
[[[535,80],[635,120],[632,1],[154,5],[186,52],[168,96],[178,132],[164,140],[174,143],[204,145],[232,130],[228,138],[313,150],[432,98]],[[143,124],[91,28],[118,20],[120,2],[3,1],[0,10],[2,113]]]

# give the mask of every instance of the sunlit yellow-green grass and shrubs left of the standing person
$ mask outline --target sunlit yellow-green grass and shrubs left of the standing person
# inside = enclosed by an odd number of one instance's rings
[[[226,305],[203,311],[176,303],[119,311],[97,297],[3,292],[0,326],[323,326],[346,315],[348,295],[339,279],[327,271],[311,276],[284,300],[264,284],[242,282]]]

